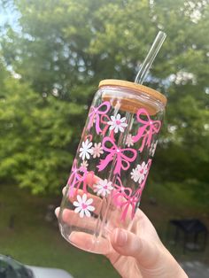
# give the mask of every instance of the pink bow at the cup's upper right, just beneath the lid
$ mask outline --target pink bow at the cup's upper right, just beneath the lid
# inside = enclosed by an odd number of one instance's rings
[[[146,115],[147,120],[140,118],[140,116],[144,114]],[[151,120],[149,113],[144,108],[138,110],[136,119],[139,123],[143,124],[143,126],[139,127],[137,135],[133,136],[133,140],[134,142],[137,142],[143,138],[142,146],[139,149],[139,151],[143,151],[144,145],[147,145],[148,147],[151,146],[152,135],[159,133],[161,121]]]

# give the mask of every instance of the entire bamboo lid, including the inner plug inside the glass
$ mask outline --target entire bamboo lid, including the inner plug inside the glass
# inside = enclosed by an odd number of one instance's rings
[[[131,89],[134,91],[134,93],[138,96],[142,96],[142,93],[145,93],[151,97],[156,98],[166,106],[166,97],[162,94],[160,94],[157,90],[151,89],[149,87],[143,86],[141,84],[135,84],[134,82],[129,81],[121,81],[121,80],[115,80],[115,79],[106,79],[103,81],[100,81],[98,87],[104,87],[104,86],[118,86],[123,87],[127,89]],[[103,93],[103,100],[110,100],[112,99],[112,95],[110,92],[104,92]],[[117,99],[120,100],[120,109],[123,111],[128,112],[136,112],[139,108],[145,108],[151,115],[156,114],[157,106],[156,104],[151,104],[148,102],[142,102],[137,97],[135,98],[122,98],[119,96],[113,97],[113,103],[112,105],[115,105],[117,103]]]

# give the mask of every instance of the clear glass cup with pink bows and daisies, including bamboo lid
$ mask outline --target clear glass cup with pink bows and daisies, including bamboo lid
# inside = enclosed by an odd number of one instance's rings
[[[166,97],[143,85],[99,83],[58,214],[68,242],[105,254],[113,228],[131,229],[165,106]]]

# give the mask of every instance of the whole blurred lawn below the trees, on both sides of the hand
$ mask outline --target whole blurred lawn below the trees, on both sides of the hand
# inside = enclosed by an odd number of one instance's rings
[[[74,248],[60,236],[55,222],[45,218],[47,206],[59,204],[58,197],[31,196],[26,189],[16,186],[0,187],[0,253],[35,266],[66,269],[75,278],[119,277],[103,256]],[[179,261],[201,260],[209,264],[209,247],[205,252],[182,252],[166,239],[168,221],[174,218],[197,217],[208,226],[208,206],[199,204],[174,184],[149,184],[141,205],[159,232],[159,236]],[[14,216],[13,228],[9,228]],[[11,223],[12,224],[12,223]]]

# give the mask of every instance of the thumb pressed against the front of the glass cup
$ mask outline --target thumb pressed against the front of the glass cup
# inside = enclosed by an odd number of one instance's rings
[[[123,256],[134,257],[143,267],[151,267],[159,259],[159,247],[122,228],[115,228],[111,234],[111,243],[115,251]]]

